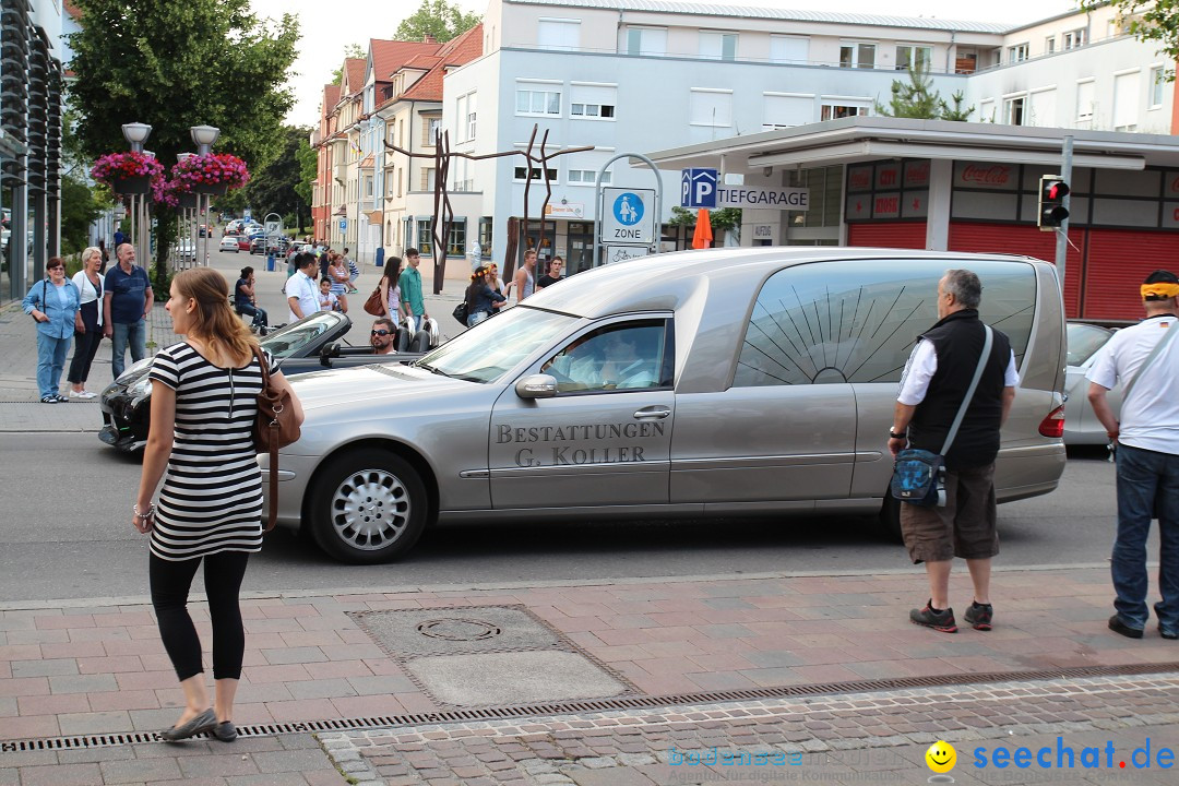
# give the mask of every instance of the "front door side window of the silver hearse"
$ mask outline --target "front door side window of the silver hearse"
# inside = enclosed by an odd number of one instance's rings
[[[612,324],[578,336],[540,368],[558,392],[639,390],[671,384],[663,319]]]

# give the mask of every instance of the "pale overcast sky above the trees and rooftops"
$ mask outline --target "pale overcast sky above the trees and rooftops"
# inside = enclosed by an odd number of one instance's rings
[[[251,0],[251,5],[259,16],[278,19],[284,12],[299,16],[303,38],[290,81],[295,106],[286,119],[294,124],[312,125],[318,120],[323,85],[343,61],[344,47],[360,44],[367,48],[370,38],[391,38],[401,20],[419,7],[420,0]],[[479,13],[487,9],[486,0],[457,0],[457,5]],[[1072,11],[1078,1],[988,0],[974,6],[951,5],[946,0],[890,0],[887,4],[881,0],[713,0],[709,5],[888,13],[1016,25]]]

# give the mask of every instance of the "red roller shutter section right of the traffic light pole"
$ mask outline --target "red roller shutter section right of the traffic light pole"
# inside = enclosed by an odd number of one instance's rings
[[[1179,232],[1091,230],[1085,276],[1087,319],[1141,319],[1139,285],[1152,271],[1179,267]]]

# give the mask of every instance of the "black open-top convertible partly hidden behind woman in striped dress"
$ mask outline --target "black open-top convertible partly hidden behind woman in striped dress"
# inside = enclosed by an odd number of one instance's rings
[[[275,329],[259,338],[258,343],[278,358],[283,375],[288,377],[378,362],[404,363],[416,361],[432,349],[428,332],[419,331],[410,337],[404,328],[399,328],[394,346],[407,349],[377,356],[367,341],[358,346],[348,345],[344,335],[351,325],[353,321],[347,315],[320,311]],[[151,358],[132,364],[99,397],[103,429],[98,432],[98,438],[106,444],[131,451],[138,450],[146,442],[151,418],[150,370]]]

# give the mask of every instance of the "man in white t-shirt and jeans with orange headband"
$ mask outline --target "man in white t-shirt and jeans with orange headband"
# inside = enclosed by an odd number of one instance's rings
[[[1141,286],[1146,318],[1119,330],[1086,377],[1089,403],[1117,445],[1118,535],[1111,572],[1117,593],[1109,629],[1141,639],[1146,540],[1159,520],[1159,633],[1179,639],[1179,278],[1155,270]],[[1121,422],[1106,394],[1122,387]]]

